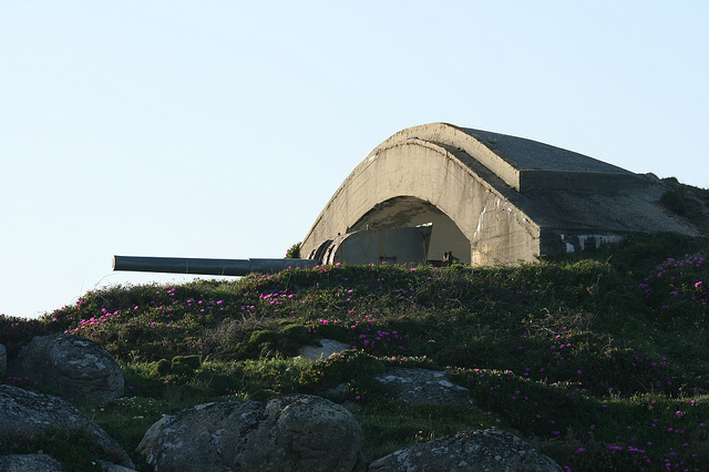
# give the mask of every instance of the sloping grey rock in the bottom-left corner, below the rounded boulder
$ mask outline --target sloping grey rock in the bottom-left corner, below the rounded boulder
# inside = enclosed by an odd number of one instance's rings
[[[13,435],[16,439],[19,435],[22,441],[31,441],[52,428],[60,428],[65,432],[83,429],[86,438],[105,459],[134,469],[131,458],[119,443],[73,406],[55,397],[0,384],[0,443]]]

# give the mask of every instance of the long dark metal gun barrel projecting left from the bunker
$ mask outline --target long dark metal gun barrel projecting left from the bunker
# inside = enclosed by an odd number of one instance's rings
[[[290,267],[314,267],[314,259],[199,259],[192,257],[113,256],[113,270],[165,274],[245,276],[277,273]]]

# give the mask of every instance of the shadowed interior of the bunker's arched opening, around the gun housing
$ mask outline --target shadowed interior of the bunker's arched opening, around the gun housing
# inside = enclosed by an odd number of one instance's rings
[[[462,264],[471,264],[471,244],[445,213],[430,202],[413,196],[397,196],[374,205],[349,232],[378,228],[401,228],[433,224],[429,260],[442,261],[450,253]]]

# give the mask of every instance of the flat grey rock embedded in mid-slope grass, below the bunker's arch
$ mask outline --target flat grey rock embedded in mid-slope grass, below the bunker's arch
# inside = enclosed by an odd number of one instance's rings
[[[408,403],[473,404],[470,390],[451,383],[442,371],[392,367],[377,380],[392,386],[397,398]]]

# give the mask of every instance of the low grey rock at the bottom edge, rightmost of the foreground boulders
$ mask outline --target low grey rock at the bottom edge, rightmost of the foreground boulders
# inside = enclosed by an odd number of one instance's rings
[[[368,471],[548,472],[562,468],[516,435],[492,429],[410,445],[373,461]]]

